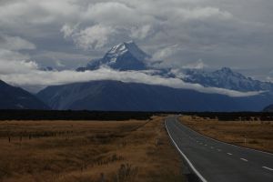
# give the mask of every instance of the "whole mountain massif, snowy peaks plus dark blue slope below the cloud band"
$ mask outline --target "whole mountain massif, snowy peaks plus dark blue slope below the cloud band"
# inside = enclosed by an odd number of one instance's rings
[[[273,103],[273,84],[253,80],[230,68],[217,71],[186,68],[158,68],[134,42],[113,46],[103,58],[92,60],[77,71],[107,66],[119,71],[142,71],[152,76],[177,78],[207,87],[242,92],[265,91],[255,96],[226,96],[193,89],[97,80],[63,86],[48,86],[36,96],[53,109],[120,111],[260,111]],[[160,65],[160,63],[159,63]],[[184,104],[183,104],[184,103]],[[187,104],[185,104],[187,103]]]

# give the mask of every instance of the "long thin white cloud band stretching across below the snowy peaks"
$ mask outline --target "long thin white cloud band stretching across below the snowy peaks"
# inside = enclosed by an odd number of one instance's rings
[[[0,75],[0,79],[17,86],[56,86],[95,80],[118,80],[126,83],[143,83],[147,85],[192,89],[202,93],[214,93],[227,96],[255,96],[261,93],[238,92],[224,88],[204,87],[198,84],[185,83],[179,78],[152,76],[149,72],[116,71],[106,67],[86,72],[76,72],[73,70],[45,72],[33,69],[31,72],[24,74]]]

